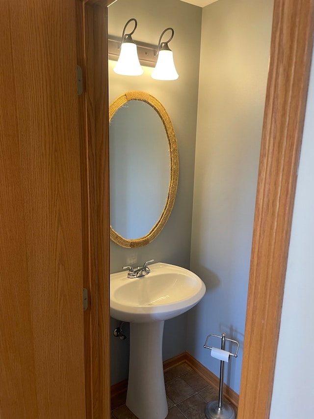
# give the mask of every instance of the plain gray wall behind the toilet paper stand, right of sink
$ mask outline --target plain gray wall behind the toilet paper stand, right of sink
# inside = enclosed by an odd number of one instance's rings
[[[238,340],[225,370],[237,393],[272,8],[273,0],[220,0],[203,9],[190,269],[207,292],[189,311],[187,350],[219,375],[206,336]]]

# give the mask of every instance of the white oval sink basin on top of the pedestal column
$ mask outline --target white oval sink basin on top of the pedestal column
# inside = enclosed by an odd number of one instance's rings
[[[167,320],[194,307],[204,296],[204,282],[193,272],[167,263],[149,265],[151,272],[127,278],[110,275],[111,317],[134,323]]]

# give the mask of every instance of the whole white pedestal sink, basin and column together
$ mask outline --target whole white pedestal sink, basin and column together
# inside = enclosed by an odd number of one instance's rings
[[[139,419],[168,414],[162,367],[164,320],[194,307],[204,296],[204,282],[193,272],[167,263],[150,265],[145,277],[110,275],[110,315],[130,322],[127,406]]]

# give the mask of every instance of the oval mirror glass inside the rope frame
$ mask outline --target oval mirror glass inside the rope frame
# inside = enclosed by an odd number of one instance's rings
[[[110,123],[110,223],[126,239],[149,233],[166,204],[167,136],[157,112],[130,100]]]

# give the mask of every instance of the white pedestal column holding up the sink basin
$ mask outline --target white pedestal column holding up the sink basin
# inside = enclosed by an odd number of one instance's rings
[[[130,323],[130,366],[126,405],[139,419],[168,415],[162,365],[164,321]]]

